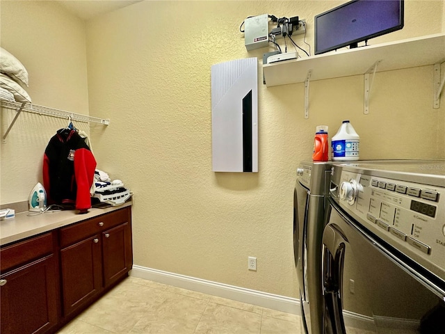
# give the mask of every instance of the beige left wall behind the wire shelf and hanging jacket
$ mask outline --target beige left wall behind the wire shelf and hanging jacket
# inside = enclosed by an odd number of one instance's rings
[[[0,45],[29,72],[34,104],[88,115],[85,23],[54,1],[1,1]],[[1,137],[15,111],[2,110]],[[42,182],[49,138],[67,120],[22,113],[0,143],[0,204],[28,200]],[[88,123],[75,122],[89,132]]]

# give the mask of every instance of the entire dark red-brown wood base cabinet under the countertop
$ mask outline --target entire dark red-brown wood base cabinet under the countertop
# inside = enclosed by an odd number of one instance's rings
[[[133,264],[131,206],[0,248],[0,333],[55,333]]]

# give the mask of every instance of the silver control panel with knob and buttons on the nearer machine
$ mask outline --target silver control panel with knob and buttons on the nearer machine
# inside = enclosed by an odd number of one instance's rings
[[[445,279],[444,187],[342,170],[338,195],[357,222]]]

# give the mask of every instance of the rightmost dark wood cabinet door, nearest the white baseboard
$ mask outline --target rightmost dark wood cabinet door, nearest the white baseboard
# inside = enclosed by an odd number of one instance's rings
[[[104,286],[125,275],[133,262],[131,228],[123,223],[102,233],[104,250]]]

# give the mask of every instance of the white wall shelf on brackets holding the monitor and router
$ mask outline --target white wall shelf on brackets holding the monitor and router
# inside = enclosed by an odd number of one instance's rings
[[[445,61],[445,34],[426,35],[380,45],[346,49],[263,65],[266,86],[305,82],[365,74],[376,62],[377,72],[434,65]]]

